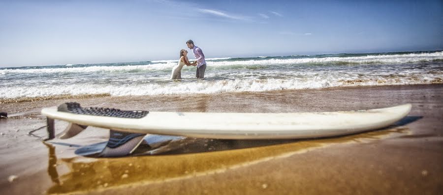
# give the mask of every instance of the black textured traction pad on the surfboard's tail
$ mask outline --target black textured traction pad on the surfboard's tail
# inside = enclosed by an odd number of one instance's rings
[[[129,119],[140,119],[145,117],[149,111],[144,110],[120,110],[115,108],[100,108],[100,107],[89,107],[83,108],[77,102],[66,102],[61,104],[58,108],[60,112],[69,112],[73,114],[81,115],[94,115],[103,117],[118,117],[118,118],[129,118]]]

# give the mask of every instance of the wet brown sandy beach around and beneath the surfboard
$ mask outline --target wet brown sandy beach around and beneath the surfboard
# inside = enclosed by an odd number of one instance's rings
[[[44,144],[42,107],[181,112],[316,112],[412,103],[391,127],[327,139],[198,140],[163,155],[87,158],[78,147],[106,141],[88,128]],[[57,97],[0,104],[0,194],[439,194],[443,190],[443,84],[341,87],[212,95]],[[58,123],[62,124],[62,123]],[[63,124],[62,124],[63,125]],[[60,130],[60,129],[59,129]],[[44,128],[36,132],[44,136]],[[8,181],[11,175],[17,177]]]

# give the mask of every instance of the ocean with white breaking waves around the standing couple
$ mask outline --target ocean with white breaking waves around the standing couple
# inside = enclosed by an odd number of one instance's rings
[[[182,80],[169,80],[177,61],[0,68],[0,98],[443,83],[443,51],[209,58],[205,79],[197,80],[196,68],[185,66]]]

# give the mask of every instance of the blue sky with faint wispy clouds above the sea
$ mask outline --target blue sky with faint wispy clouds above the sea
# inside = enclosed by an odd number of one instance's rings
[[[443,50],[441,0],[0,0],[0,67]],[[193,56],[190,56],[193,59]]]

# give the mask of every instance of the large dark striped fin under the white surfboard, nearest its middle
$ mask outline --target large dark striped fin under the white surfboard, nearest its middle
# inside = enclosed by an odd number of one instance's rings
[[[99,157],[126,156],[142,143],[143,133],[126,133],[111,129],[106,147],[100,152]]]

